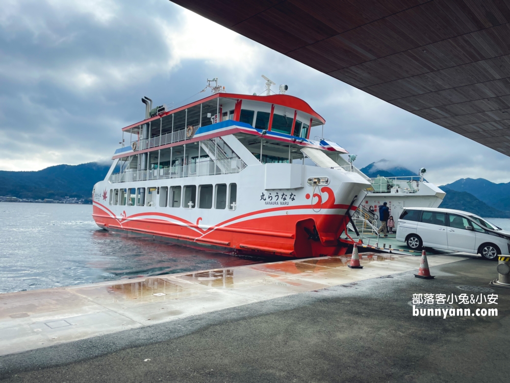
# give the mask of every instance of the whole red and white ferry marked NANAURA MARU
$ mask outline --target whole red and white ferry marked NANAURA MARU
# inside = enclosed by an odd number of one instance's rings
[[[262,96],[211,81],[209,97],[173,110],[142,99],[146,118],[122,129],[130,145],[94,186],[96,224],[235,254],[344,254],[347,212],[371,184],[342,147],[310,139],[324,118],[286,86],[271,95],[270,80]]]

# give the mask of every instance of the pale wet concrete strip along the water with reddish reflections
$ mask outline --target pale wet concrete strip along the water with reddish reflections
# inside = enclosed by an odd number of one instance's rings
[[[430,256],[441,265],[465,256]],[[0,296],[0,355],[48,347],[229,307],[417,270],[419,258],[361,254],[167,274]]]

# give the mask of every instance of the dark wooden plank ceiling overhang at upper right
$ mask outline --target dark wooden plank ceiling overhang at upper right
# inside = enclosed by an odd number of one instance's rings
[[[510,0],[172,0],[510,155]]]

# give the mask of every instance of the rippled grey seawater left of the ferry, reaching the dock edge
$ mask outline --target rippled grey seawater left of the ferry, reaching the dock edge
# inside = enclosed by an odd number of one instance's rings
[[[1,202],[0,226],[0,293],[267,261],[112,234],[92,205]]]

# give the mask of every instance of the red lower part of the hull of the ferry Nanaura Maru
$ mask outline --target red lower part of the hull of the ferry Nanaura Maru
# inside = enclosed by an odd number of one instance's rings
[[[347,245],[337,238],[345,229],[348,218],[345,214],[292,214],[255,218],[221,228],[204,230],[197,235],[197,225],[180,224],[160,218],[116,219],[104,214],[104,209],[94,205],[94,220],[98,226],[112,232],[137,233],[194,247],[214,249],[225,253],[249,255],[276,255],[294,258],[345,254]],[[343,209],[345,211],[345,209]],[[284,212],[285,214],[285,212]],[[131,219],[130,219],[131,218]],[[319,234],[327,230],[323,226],[338,227],[335,236]],[[314,227],[317,236],[313,236]],[[312,235],[311,235],[312,234]],[[312,237],[311,237],[312,236]],[[322,241],[321,241],[322,240]]]

